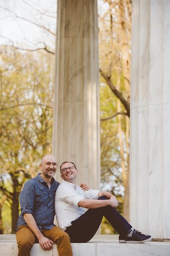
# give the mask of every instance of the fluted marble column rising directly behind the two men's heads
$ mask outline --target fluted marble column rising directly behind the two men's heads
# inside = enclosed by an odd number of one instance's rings
[[[100,187],[97,0],[58,0],[53,154]],[[57,179],[60,180],[58,171]]]

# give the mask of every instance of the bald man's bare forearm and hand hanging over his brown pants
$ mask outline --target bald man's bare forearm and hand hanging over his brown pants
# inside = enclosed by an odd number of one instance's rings
[[[43,236],[43,234],[38,229],[37,224],[35,222],[35,218],[32,216],[32,214],[24,213],[23,218],[26,221],[26,224],[29,226],[30,230],[32,230],[35,236],[37,236],[37,239],[41,247],[45,250],[51,250],[52,244],[54,244],[54,242]]]

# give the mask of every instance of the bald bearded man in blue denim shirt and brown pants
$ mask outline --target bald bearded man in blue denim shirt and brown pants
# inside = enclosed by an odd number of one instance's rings
[[[57,244],[59,256],[72,256],[72,247],[67,233],[56,227],[55,192],[60,183],[53,176],[57,162],[53,155],[45,155],[40,163],[42,173],[28,180],[20,192],[21,213],[17,221],[16,239],[18,256],[30,256],[35,242],[44,250]],[[86,184],[81,184],[86,190]]]

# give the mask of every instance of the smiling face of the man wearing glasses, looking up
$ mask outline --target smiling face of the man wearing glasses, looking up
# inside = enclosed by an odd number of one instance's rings
[[[77,175],[78,170],[75,169],[75,166],[72,163],[67,162],[61,166],[61,178],[63,180],[66,180],[71,183],[76,183]]]

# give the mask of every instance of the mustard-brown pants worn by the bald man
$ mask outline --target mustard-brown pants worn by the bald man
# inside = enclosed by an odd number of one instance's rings
[[[57,244],[59,256],[72,256],[72,246],[70,244],[69,235],[59,227],[52,227],[51,230],[42,228],[43,236],[52,240]],[[18,256],[30,256],[30,251],[35,242],[38,242],[37,237],[32,233],[28,226],[19,226],[16,233],[18,244]]]

